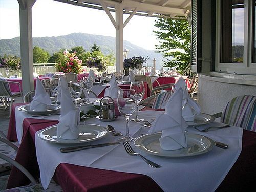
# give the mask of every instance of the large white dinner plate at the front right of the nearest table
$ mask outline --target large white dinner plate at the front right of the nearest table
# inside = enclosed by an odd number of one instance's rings
[[[135,146],[148,154],[162,157],[187,157],[204,154],[212,150],[214,140],[199,134],[187,134],[187,147],[180,150],[162,150],[159,139],[162,133],[143,135],[134,142]]]

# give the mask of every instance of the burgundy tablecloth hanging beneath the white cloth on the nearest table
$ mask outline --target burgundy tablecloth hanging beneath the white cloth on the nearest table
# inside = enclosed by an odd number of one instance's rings
[[[15,115],[15,113],[12,113],[12,115]],[[12,117],[11,119],[15,118]],[[44,121],[45,123],[43,123]],[[36,131],[57,123],[57,121],[48,121],[26,118],[23,123],[24,136],[16,160],[24,165],[36,178],[39,177],[39,167],[36,160],[34,137]],[[9,126],[9,129],[15,130],[15,126]],[[9,133],[11,133],[10,130]],[[244,130],[242,152],[217,191],[253,191],[253,188],[255,189],[253,185],[256,171],[254,162],[256,158],[255,148],[256,133]],[[54,179],[64,191],[120,191],[120,189],[127,191],[161,191],[161,188],[150,177],[145,175],[115,172],[67,163],[58,165]],[[11,188],[27,183],[29,181],[21,172],[16,168],[11,170],[7,187]]]

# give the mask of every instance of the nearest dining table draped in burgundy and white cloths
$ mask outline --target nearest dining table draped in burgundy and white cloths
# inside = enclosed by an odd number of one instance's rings
[[[8,129],[8,139],[10,141],[17,140],[15,115],[18,114],[17,108],[24,104],[27,103],[14,103],[12,106]],[[143,118],[152,119],[161,113],[163,113],[162,110],[153,111],[152,109],[145,107],[140,111],[139,115]],[[81,123],[99,124],[103,127],[107,124],[112,124],[117,131],[121,131],[123,133],[125,129],[124,122],[124,117],[120,116],[113,122],[101,122],[96,118],[88,118]],[[40,171],[47,172],[48,169],[44,170],[44,168],[41,167],[42,165],[38,164],[38,159],[50,158],[51,156],[53,156],[51,159],[58,159],[59,156],[62,155],[63,157],[66,157],[65,159],[70,159],[69,162],[61,162],[57,164],[56,169],[52,173],[53,179],[62,187],[63,191],[120,191],[120,189],[127,191],[255,190],[255,185],[253,184],[253,176],[256,171],[256,165],[254,163],[256,157],[255,132],[231,126],[228,129],[218,129],[203,133],[193,129],[193,127],[190,127],[188,132],[205,135],[229,144],[228,149],[213,146],[211,151],[193,157],[158,157],[143,153],[136,149],[134,144],[131,144],[136,152],[139,152],[148,159],[159,162],[159,164],[161,163],[161,165],[163,165],[163,167],[159,169],[154,169],[147,166],[147,164],[139,157],[129,156],[125,152],[122,144],[90,149],[91,151],[83,150],[80,152],[71,152],[64,156],[64,154],[60,153],[58,150],[59,148],[67,145],[63,146],[60,144],[50,143],[38,138],[40,130],[44,130],[47,127],[56,125],[57,123],[58,120],[56,117],[43,119],[27,116],[24,118],[22,122],[22,142],[17,152],[16,161],[27,168],[35,178],[39,178],[41,176],[41,179],[44,182],[44,177],[42,177],[42,173],[40,175]],[[130,131],[134,137],[141,137],[142,134],[147,133],[148,128],[143,126],[143,124],[131,122]],[[233,138],[229,137],[231,132],[240,133],[241,138],[238,137],[235,139],[236,142],[232,142]],[[103,141],[115,141],[118,137],[119,136],[115,137],[109,134],[103,138]],[[97,144],[97,141],[94,142]],[[234,158],[231,158],[228,162],[222,161],[221,157],[228,159],[226,156],[233,153],[233,150],[236,151],[235,148],[237,145],[238,150],[234,153]],[[241,148],[239,148],[239,146],[241,146]],[[53,151],[54,153],[52,153]],[[87,161],[87,158],[98,153],[105,154],[106,151],[110,154],[109,156],[101,155],[100,158],[97,158],[97,160],[92,162],[92,165],[83,165],[83,163]],[[77,159],[73,159],[75,156],[78,157],[78,161],[81,161],[81,164],[75,163],[75,161],[77,161]],[[113,157],[114,160],[108,161],[108,158],[113,159]],[[222,170],[221,167],[224,166],[223,164],[225,163],[228,168],[223,168]],[[125,171],[123,169],[119,170],[122,166],[124,166]],[[164,166],[166,166],[166,168],[164,168]],[[169,166],[172,168],[167,168]],[[142,170],[148,170],[150,172],[150,176],[134,171],[141,168]],[[154,176],[155,173],[162,172],[164,173],[163,175],[159,174]],[[217,173],[219,172],[223,173],[218,175]],[[165,174],[167,175],[165,176]],[[160,181],[158,177],[161,178]],[[162,180],[166,181],[164,182]],[[162,184],[162,182],[164,184]],[[23,173],[13,167],[7,188],[21,186],[28,183],[29,180],[23,175]],[[165,188],[165,184],[167,185],[167,188]]]

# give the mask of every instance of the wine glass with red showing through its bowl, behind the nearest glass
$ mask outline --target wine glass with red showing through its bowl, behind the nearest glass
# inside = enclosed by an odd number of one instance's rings
[[[132,119],[131,121],[140,123],[143,122],[144,119],[139,119],[139,102],[142,100],[145,94],[145,87],[144,87],[144,82],[143,81],[132,81],[130,84],[130,89],[135,90],[135,94],[132,94],[132,97],[136,100],[136,105],[137,105],[137,111],[136,111],[136,118]]]

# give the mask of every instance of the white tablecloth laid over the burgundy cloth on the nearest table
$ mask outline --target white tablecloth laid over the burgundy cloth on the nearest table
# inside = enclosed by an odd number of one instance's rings
[[[162,112],[141,111],[139,116],[140,118],[151,119],[159,113]],[[101,122],[95,118],[86,121],[86,123],[102,126],[111,124],[117,131],[122,133],[125,133],[124,122],[124,117],[118,117],[115,121],[108,123]],[[130,123],[130,133],[134,137],[139,137],[141,133],[145,134],[147,131],[148,128],[143,127],[142,124]],[[228,129],[203,133],[197,132],[193,128],[188,128],[188,132],[196,132],[227,143],[229,148],[223,150],[222,148],[214,147],[208,153],[193,157],[162,158],[141,152],[137,150],[134,144],[131,144],[136,152],[162,166],[156,169],[148,166],[140,157],[128,155],[122,144],[61,153],[59,148],[64,147],[63,145],[41,140],[38,138],[37,132],[35,144],[42,185],[47,188],[58,164],[70,163],[119,172],[144,174],[151,177],[164,191],[214,191],[241,153],[242,129],[232,126]],[[105,138],[90,144],[115,142],[118,138],[118,136],[114,137],[109,134]]]

